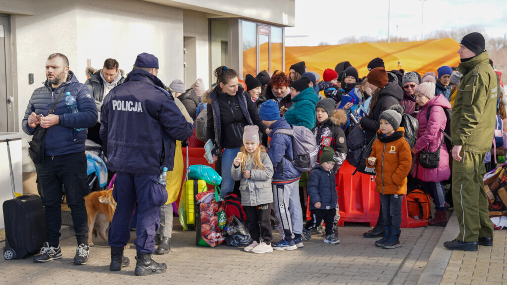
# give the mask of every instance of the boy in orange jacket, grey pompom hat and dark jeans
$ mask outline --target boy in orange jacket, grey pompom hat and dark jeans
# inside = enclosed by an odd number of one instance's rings
[[[375,167],[375,182],[382,203],[384,236],[375,245],[383,248],[400,247],[403,195],[407,194],[407,175],[412,165],[405,129],[400,127],[402,114],[401,105],[380,114],[377,140],[366,160],[367,167]]]

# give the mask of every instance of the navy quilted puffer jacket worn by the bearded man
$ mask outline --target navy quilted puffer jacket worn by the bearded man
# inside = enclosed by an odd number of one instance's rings
[[[33,91],[21,122],[21,128],[26,134],[32,135],[40,125],[30,128],[28,116],[32,112],[37,115],[48,116],[49,110],[58,97],[58,93],[65,88],[58,103],[56,103],[54,115],[60,117],[60,123],[46,130],[45,155],[58,156],[64,154],[80,153],[85,151],[86,128],[92,127],[97,122],[97,105],[90,90],[86,85],[79,83],[73,72],[69,70],[67,80],[62,82],[55,90],[46,81],[43,87]],[[76,97],[79,113],[72,114],[65,105],[65,93],[70,92]],[[74,128],[85,128],[76,131]]]

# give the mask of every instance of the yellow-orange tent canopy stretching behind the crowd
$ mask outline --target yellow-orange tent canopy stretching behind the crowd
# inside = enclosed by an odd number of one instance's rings
[[[404,43],[359,43],[318,47],[285,47],[285,70],[304,61],[309,71],[322,75],[325,68],[335,69],[341,61],[349,61],[359,77],[368,75],[368,63],[375,57],[384,60],[387,70],[405,69],[421,76],[437,73],[442,65],[458,66],[458,42],[453,39]],[[261,64],[262,65],[262,64]]]

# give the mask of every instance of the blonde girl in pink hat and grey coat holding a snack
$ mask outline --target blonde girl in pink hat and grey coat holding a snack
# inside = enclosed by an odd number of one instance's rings
[[[259,127],[245,126],[243,146],[234,158],[231,168],[232,179],[241,180],[241,205],[245,210],[246,224],[253,239],[253,242],[244,248],[245,252],[273,252],[269,207],[269,203],[273,202],[272,176],[273,164],[266,149],[260,145]]]

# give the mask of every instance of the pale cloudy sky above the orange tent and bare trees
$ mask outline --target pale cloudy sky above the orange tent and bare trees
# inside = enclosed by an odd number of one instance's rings
[[[286,35],[308,35],[306,43],[335,45],[345,37],[387,38],[388,0],[295,0],[296,27]],[[391,37],[421,39],[421,0],[390,0]],[[396,25],[398,25],[396,31]],[[424,33],[480,25],[490,37],[507,33],[507,1],[426,0]]]

